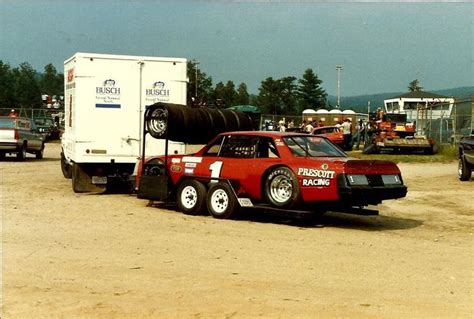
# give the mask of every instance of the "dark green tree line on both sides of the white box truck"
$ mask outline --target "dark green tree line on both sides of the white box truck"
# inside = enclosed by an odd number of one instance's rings
[[[212,77],[198,67],[195,60],[188,61],[188,105],[225,108],[234,105],[255,105],[264,114],[301,114],[307,108],[328,107],[323,81],[308,68],[301,78],[286,76],[280,79],[268,77],[258,88],[258,94],[248,93],[247,85],[235,85],[229,80],[213,85]],[[0,60],[0,107],[39,108],[42,95],[64,94],[64,74],[47,64],[43,72],[37,72],[27,63],[11,67]]]

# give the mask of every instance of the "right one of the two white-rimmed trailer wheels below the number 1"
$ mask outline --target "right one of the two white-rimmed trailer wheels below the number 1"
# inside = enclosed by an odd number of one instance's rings
[[[229,184],[213,184],[206,197],[207,209],[212,217],[218,219],[232,218],[239,211],[239,203]]]

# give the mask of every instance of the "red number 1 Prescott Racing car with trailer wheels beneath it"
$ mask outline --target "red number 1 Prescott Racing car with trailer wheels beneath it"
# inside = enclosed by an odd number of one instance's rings
[[[136,188],[139,198],[215,218],[240,207],[363,213],[407,193],[393,162],[349,158],[320,136],[262,131],[221,133],[193,155],[142,159]]]

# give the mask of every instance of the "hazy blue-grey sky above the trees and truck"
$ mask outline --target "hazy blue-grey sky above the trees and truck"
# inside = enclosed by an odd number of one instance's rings
[[[341,95],[474,85],[472,2],[0,0],[0,60],[42,71],[75,52],[195,59],[215,85],[300,78]]]

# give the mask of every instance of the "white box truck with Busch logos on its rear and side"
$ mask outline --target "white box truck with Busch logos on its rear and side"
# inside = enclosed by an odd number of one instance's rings
[[[186,69],[183,58],[76,53],[64,62],[61,169],[74,192],[128,182],[142,154],[146,106],[186,104]],[[162,155],[165,142],[146,139],[145,150]],[[184,150],[183,143],[168,144],[170,153]]]

